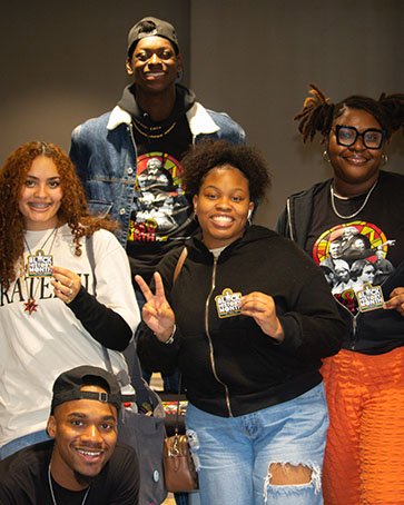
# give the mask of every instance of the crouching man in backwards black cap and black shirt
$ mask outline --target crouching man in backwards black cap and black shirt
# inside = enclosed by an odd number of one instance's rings
[[[0,462],[2,505],[138,504],[134,449],[117,444],[120,386],[92,366],[62,373],[53,384],[47,430],[52,440]]]

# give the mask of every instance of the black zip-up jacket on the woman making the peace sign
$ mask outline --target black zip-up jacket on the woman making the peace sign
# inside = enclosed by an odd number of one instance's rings
[[[171,345],[148,328],[138,341],[151,370],[183,373],[188,399],[218,416],[239,416],[295,398],[321,383],[321,358],[339,350],[346,328],[321,269],[290,240],[253,226],[216,260],[197,238],[173,287],[181,248],[158,266],[176,314]],[[262,291],[275,299],[285,331],[282,344],[252,317],[218,316],[225,289]]]

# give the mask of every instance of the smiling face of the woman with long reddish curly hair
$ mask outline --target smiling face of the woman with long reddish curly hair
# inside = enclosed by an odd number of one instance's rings
[[[19,210],[26,229],[55,228],[62,196],[60,177],[53,160],[38,156],[27,172],[20,192]]]

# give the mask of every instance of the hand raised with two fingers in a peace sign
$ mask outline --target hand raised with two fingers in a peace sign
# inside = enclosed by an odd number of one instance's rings
[[[154,295],[141,276],[135,276],[141,293],[146,298],[146,304],[141,310],[141,316],[147,326],[154,331],[160,341],[167,341],[175,327],[175,315],[167,301],[164,293],[161,276],[155,273],[156,294]]]

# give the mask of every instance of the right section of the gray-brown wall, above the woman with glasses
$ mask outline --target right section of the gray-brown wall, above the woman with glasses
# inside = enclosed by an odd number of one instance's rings
[[[275,226],[287,195],[331,177],[319,139],[303,145],[293,117],[317,83],[331,99],[404,92],[402,0],[191,2],[190,85],[226,110],[267,156],[273,190],[257,221]],[[401,133],[388,170],[404,174]]]

